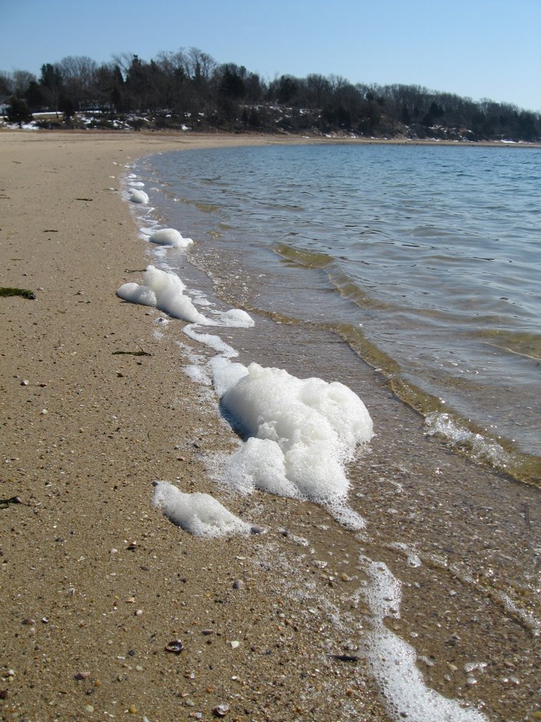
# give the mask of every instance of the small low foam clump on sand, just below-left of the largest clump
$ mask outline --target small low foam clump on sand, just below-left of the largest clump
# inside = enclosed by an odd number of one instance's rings
[[[187,494],[168,482],[153,482],[152,504],[172,523],[195,536],[249,534],[250,524],[234,516],[209,494]]]

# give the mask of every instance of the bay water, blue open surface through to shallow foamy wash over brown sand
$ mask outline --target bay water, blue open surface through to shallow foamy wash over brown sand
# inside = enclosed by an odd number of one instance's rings
[[[306,538],[275,554],[271,532],[265,564],[366,657],[392,720],[541,712],[539,157],[303,146],[136,166],[151,217],[195,240],[154,262],[202,313],[255,319],[219,329],[239,361],[341,381],[369,409],[347,467],[364,529],[294,500],[247,518]]]

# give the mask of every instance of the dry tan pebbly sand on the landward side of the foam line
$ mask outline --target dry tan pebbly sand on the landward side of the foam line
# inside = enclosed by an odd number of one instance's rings
[[[36,295],[0,298],[0,497],[21,502],[0,508],[4,720],[210,719],[218,705],[229,720],[386,719],[362,661],[328,656],[344,639],[293,601],[291,539],[198,539],[150,503],[156,478],[219,496],[203,461],[234,436],[143,323],[156,312],[115,297],[146,264],[120,177],[147,153],[254,142],[276,141],[0,134],[0,285]],[[260,519],[258,497],[226,503],[273,529],[326,520],[275,497]],[[177,638],[184,651],[165,651]]]

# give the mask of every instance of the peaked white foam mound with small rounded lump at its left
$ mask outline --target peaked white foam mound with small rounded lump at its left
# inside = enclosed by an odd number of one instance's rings
[[[125,283],[116,292],[123,300],[131,303],[154,305],[174,318],[190,323],[208,323],[199,313],[190,298],[185,295],[186,287],[177,274],[162,271],[155,266],[147,266],[143,274],[143,284]]]

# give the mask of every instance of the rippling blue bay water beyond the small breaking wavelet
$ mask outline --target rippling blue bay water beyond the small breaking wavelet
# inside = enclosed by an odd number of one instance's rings
[[[144,161],[228,303],[335,331],[482,462],[539,484],[541,151],[305,145]],[[333,358],[327,376],[333,378]]]

